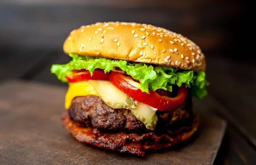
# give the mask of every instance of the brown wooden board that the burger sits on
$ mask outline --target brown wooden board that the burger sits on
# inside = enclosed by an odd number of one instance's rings
[[[62,128],[66,91],[23,81],[0,84],[0,164],[212,165],[226,128],[224,120],[201,115],[198,133],[169,150],[139,157],[95,148],[77,142]],[[195,109],[206,109],[203,104],[195,102]]]

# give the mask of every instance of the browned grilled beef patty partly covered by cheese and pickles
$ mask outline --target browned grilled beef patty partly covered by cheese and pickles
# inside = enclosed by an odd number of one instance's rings
[[[144,123],[131,114],[130,110],[112,108],[97,96],[75,97],[68,113],[70,119],[85,127],[118,131],[146,130]],[[158,122],[155,130],[169,129],[170,126],[179,125],[179,122],[191,117],[190,101],[184,102],[182,107],[176,111],[157,111],[157,117]]]

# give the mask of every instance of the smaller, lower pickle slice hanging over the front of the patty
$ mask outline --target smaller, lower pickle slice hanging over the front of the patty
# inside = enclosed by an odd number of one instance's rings
[[[154,130],[158,120],[156,110],[141,102],[138,102],[137,108],[131,108],[130,110],[138,120],[145,124],[147,129]]]

